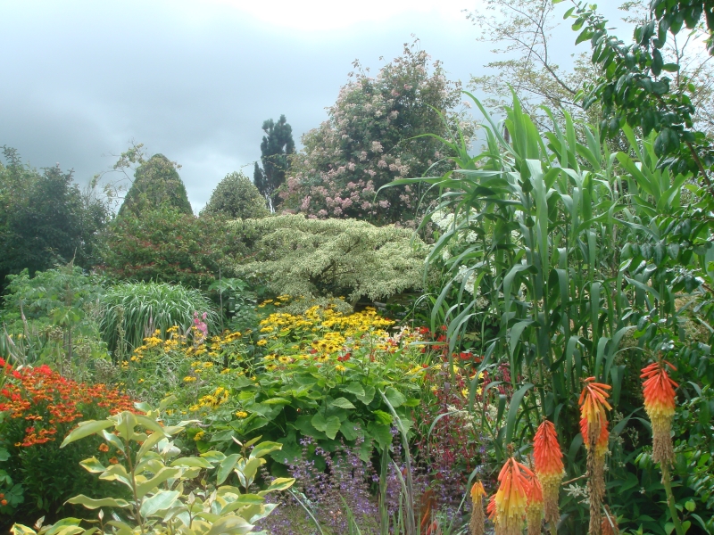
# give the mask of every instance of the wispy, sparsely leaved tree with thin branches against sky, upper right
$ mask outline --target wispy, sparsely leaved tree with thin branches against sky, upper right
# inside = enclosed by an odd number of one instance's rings
[[[582,89],[584,85],[597,85],[602,63],[594,65],[584,52],[575,56],[571,69],[557,64],[559,59],[565,60],[568,56],[558,53],[552,43],[552,31],[558,26],[554,4],[557,2],[553,0],[488,0],[486,10],[469,13],[469,19],[478,30],[477,40],[493,43],[493,52],[505,56],[484,65],[486,73],[473,76],[470,86],[484,93],[484,103],[493,109],[502,109],[511,103],[511,90],[514,91],[523,109],[541,130],[552,128],[551,119],[541,106],[554,111],[560,126],[562,111],[596,124],[601,115],[600,102],[591,100],[585,105]],[[627,24],[636,25],[649,17],[643,0],[624,2],[620,10]],[[695,89],[688,95],[697,107],[695,120],[714,131],[710,111],[714,107],[714,72],[697,44],[701,37],[702,32],[684,38],[673,35],[662,54],[665,63],[679,66],[677,77],[685,77],[693,83]],[[617,147],[613,148],[627,146],[627,141],[619,137]]]

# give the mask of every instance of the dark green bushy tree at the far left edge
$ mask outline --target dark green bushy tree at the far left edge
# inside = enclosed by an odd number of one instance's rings
[[[99,258],[99,232],[108,209],[90,188],[82,191],[72,172],[42,172],[4,147],[0,163],[0,284],[27,268],[30,274],[64,264],[91,268]]]

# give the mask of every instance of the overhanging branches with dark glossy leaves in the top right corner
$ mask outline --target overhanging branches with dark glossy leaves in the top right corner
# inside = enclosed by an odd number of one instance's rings
[[[708,4],[652,2],[652,17],[635,27],[634,42],[629,45],[610,35],[607,21],[594,5],[578,3],[566,16],[576,19],[572,27],[580,31],[576,43],[590,40],[592,62],[602,69],[601,77],[585,88],[584,101],[585,108],[596,102],[602,106],[602,136],[618,135],[624,124],[642,128],[645,136],[654,131],[655,152],[663,157],[660,165],[672,166],[679,173],[701,174],[711,187],[714,151],[708,136],[694,124],[696,87],[680,72],[678,63],[665,62],[662,54],[668,39],[677,37],[684,26],[698,25],[702,12],[711,31],[714,19]]]

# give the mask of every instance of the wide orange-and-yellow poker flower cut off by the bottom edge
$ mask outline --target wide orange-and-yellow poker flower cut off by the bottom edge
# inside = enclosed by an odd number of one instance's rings
[[[513,457],[503,465],[492,510],[496,535],[521,535],[531,485],[529,479],[533,477],[535,474]]]

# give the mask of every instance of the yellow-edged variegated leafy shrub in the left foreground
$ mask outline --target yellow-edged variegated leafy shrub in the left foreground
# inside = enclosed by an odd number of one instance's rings
[[[167,403],[163,403],[164,408]],[[80,494],[71,504],[100,509],[99,533],[195,533],[204,535],[243,534],[253,531],[253,524],[265,518],[275,505],[265,504],[270,492],[289,489],[295,480],[280,478],[265,490],[254,491],[258,469],[264,457],[280,449],[274,442],[246,444],[240,453],[226,457],[211,451],[201,457],[179,457],[180,449],[174,437],[187,424],[164,426],[158,410],[144,407],[145,415],[122,412],[106,420],[88,420],[79,424],[62,442],[62,448],[89,436],[106,440],[118,450],[120,462],[104,466],[96,457],[81,462],[88,473],[98,474],[99,481],[117,481],[126,487],[130,498],[89,498]],[[108,432],[107,430],[112,430]],[[254,446],[248,451],[249,446]],[[217,481],[208,487],[203,481],[196,485],[202,473],[217,468]],[[235,475],[238,486],[221,485],[228,475]],[[219,487],[219,485],[221,485]],[[188,490],[187,487],[194,488]],[[103,508],[112,509],[113,520],[104,523]],[[62,530],[62,533],[85,532],[79,519],[66,518],[54,526],[37,528],[39,534]],[[37,532],[15,524],[15,535],[35,535]]]

